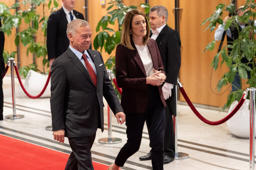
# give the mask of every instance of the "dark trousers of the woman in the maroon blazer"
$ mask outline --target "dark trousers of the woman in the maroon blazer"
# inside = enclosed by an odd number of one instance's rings
[[[139,150],[145,121],[149,127],[152,146],[153,170],[163,170],[164,144],[164,106],[157,86],[150,85],[149,98],[144,113],[126,113],[127,143],[118,153],[115,164],[124,166],[125,161]]]

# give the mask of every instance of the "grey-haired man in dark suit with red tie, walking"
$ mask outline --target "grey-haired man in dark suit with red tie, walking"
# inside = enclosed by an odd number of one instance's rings
[[[125,114],[100,52],[89,49],[92,33],[88,22],[73,20],[67,35],[70,45],[51,68],[53,137],[60,142],[68,137],[72,153],[66,170],[93,170],[90,150],[97,128],[104,129],[103,96],[118,123],[125,122]]]

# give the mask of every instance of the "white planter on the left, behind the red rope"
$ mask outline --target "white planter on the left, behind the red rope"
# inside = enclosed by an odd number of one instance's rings
[[[41,74],[36,71],[29,70],[28,75],[25,79],[24,87],[31,96],[37,96],[43,90],[47,78],[48,74]],[[40,98],[51,97],[50,87],[51,81],[49,81],[45,92]]]

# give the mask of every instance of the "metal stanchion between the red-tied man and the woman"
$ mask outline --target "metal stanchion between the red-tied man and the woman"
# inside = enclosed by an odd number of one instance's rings
[[[112,70],[108,69],[107,72],[108,72],[109,79],[111,80]],[[111,121],[111,109],[109,108],[109,105],[108,105],[108,137],[100,138],[98,140],[99,143],[114,144],[114,143],[122,142],[122,139],[112,137],[112,123],[111,122],[112,122]]]

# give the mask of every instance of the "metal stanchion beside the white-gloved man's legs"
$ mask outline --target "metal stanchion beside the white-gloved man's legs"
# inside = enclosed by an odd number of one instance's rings
[[[179,78],[177,79],[177,84],[179,87],[182,87]],[[176,113],[177,113],[177,85],[175,86],[175,88],[176,88]],[[174,159],[186,159],[189,157],[187,153],[178,152],[177,116],[173,116],[173,126],[174,126],[174,134],[175,134],[175,156],[174,156]]]

